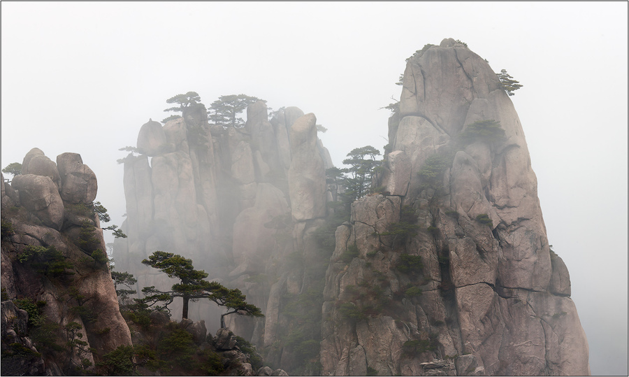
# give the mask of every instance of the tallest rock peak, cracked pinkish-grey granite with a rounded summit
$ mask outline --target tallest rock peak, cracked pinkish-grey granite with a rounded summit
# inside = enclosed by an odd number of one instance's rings
[[[416,52],[389,141],[382,192],[336,232],[323,373],[589,374],[523,130],[489,64],[452,39]]]

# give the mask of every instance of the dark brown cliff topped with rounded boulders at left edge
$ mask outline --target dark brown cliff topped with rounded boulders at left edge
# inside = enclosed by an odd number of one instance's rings
[[[3,374],[92,371],[131,344],[94,212],[96,176],[80,155],[55,164],[34,148],[0,187]]]

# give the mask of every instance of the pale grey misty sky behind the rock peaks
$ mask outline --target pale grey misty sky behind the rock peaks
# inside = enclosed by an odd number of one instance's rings
[[[405,59],[460,39],[523,84],[512,101],[593,374],[628,374],[626,2],[1,2],[1,166],[78,152],[120,225],[118,148],[166,99],[248,94],[328,128],[335,164],[387,143]]]

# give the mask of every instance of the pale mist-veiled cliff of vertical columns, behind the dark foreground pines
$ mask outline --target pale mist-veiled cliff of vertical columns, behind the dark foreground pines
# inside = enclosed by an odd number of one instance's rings
[[[315,115],[289,107],[268,119],[259,101],[247,108],[240,129],[208,125],[201,104],[163,127],[143,125],[138,153],[123,159],[122,230],[129,237],[115,242],[114,259],[118,271],[138,278],[138,291],[173,284],[141,264],[156,250],[189,257],[210,279],[238,287],[266,317],[229,316],[227,325],[265,348],[268,362],[290,371],[303,360],[280,342],[295,321],[282,306],[287,295],[295,299],[324,278],[326,257],[312,234],[327,214],[325,169],[332,163],[317,138]],[[173,306],[172,313],[180,311]],[[217,328],[219,313],[198,301],[189,315]],[[308,332],[318,335],[319,325],[313,322]]]

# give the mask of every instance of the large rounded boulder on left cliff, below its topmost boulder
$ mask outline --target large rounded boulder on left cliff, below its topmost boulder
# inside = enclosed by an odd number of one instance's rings
[[[61,229],[64,224],[64,201],[50,177],[34,174],[13,178],[12,186],[20,194],[20,204],[48,227]]]

